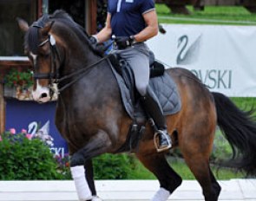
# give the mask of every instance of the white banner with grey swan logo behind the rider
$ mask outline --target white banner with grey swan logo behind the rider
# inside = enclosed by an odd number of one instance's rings
[[[149,40],[156,59],[191,70],[211,91],[256,97],[256,27],[163,24]]]

